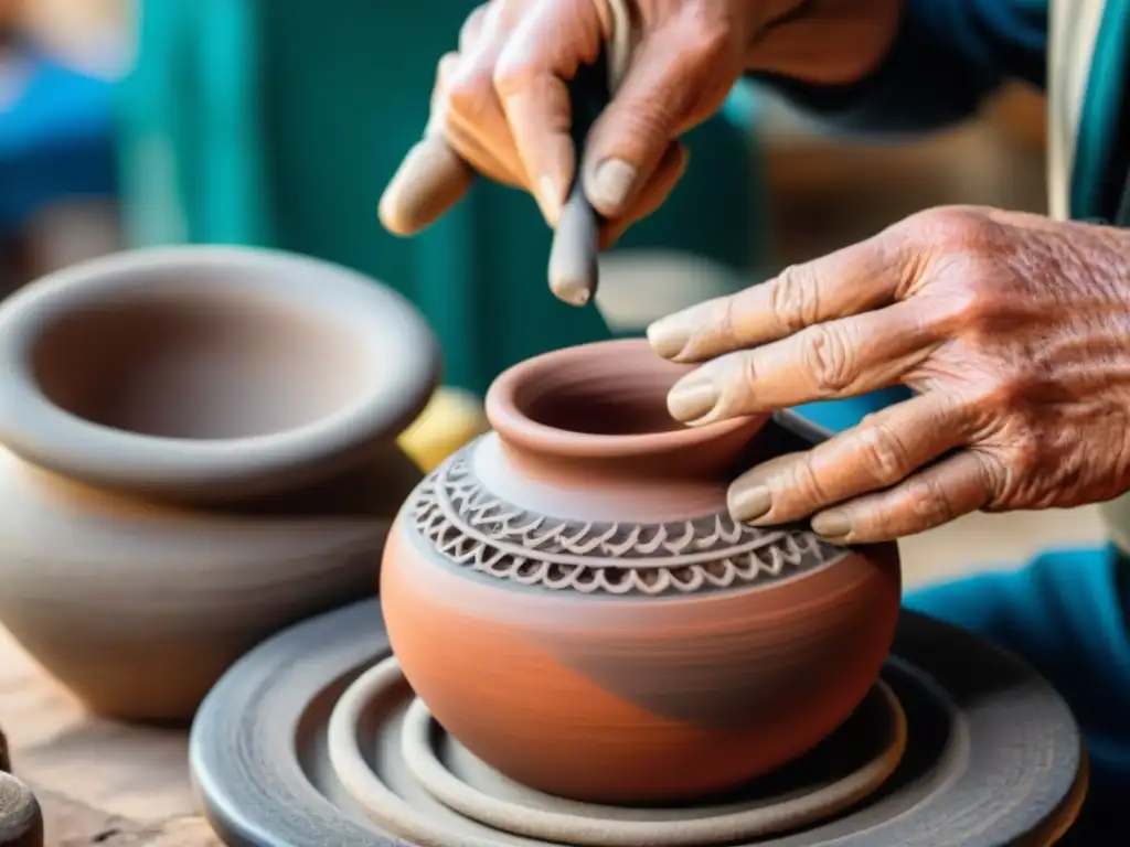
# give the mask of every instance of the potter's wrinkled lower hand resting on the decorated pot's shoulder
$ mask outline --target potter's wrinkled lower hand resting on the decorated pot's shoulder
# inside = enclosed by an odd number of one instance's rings
[[[1130,234],[936,209],[653,324],[704,363],[669,395],[706,424],[903,384],[916,396],[730,490],[734,517],[895,539],[976,509],[1130,488]]]

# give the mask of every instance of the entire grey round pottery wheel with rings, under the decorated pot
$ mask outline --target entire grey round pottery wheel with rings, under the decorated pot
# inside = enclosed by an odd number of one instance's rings
[[[220,836],[253,847],[1054,844],[1086,770],[1078,728],[1045,681],[904,613],[883,679],[855,714],[771,777],[688,806],[550,797],[435,724],[391,658],[376,601],[241,660],[197,716],[191,766]]]

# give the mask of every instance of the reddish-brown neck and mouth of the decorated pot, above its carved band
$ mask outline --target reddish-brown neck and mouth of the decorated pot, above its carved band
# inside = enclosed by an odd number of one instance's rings
[[[484,472],[515,492],[525,491],[525,480],[539,490],[576,492],[573,499],[589,505],[597,489],[615,492],[624,506],[643,491],[677,487],[685,495],[710,491],[687,495],[699,503],[714,503],[721,491],[724,507],[737,461],[766,417],[676,424],[667,394],[690,369],[660,358],[643,339],[528,359],[487,392],[496,435],[484,444]]]

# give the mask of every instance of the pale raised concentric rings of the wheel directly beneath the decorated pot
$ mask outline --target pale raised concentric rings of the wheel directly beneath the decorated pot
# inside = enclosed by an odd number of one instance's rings
[[[819,750],[732,797],[667,809],[576,803],[531,791],[468,752],[434,723],[397,661],[386,658],[338,700],[328,753],[348,798],[401,838],[696,847],[793,829],[853,805],[894,772],[906,734],[902,708],[883,684]],[[499,841],[503,832],[534,840]]]

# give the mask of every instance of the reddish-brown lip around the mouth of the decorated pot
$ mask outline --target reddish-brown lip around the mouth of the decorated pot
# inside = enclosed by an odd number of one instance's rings
[[[487,392],[487,419],[504,442],[538,453],[567,459],[628,459],[669,453],[716,442],[731,434],[748,430],[750,427],[759,427],[768,419],[768,416],[749,416],[663,433],[594,435],[559,429],[532,420],[518,401],[519,393],[524,386],[537,382],[548,372],[643,351],[654,357],[657,372],[671,372],[676,367],[687,372],[692,369],[690,367],[675,366],[660,358],[658,353],[652,351],[646,339],[615,339],[566,347],[527,359],[504,370],[492,383]]]

